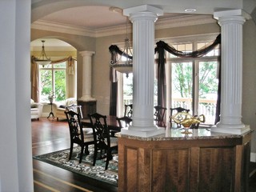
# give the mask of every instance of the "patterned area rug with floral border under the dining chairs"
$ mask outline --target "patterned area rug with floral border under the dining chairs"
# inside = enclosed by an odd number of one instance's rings
[[[42,162],[48,162],[54,166],[70,170],[86,177],[97,179],[101,182],[107,182],[114,186],[118,186],[118,154],[113,153],[113,159],[109,162],[108,169],[105,170],[106,159],[96,160],[93,165],[94,146],[89,147],[90,154],[83,155],[82,162],[79,164],[80,146],[74,147],[71,160],[69,160],[70,149],[59,150],[50,154],[42,154],[34,156]],[[99,154],[99,153],[98,153]]]

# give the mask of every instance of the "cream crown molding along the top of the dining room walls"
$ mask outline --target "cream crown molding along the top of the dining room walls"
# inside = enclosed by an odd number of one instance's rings
[[[180,26],[194,26],[207,23],[217,22],[212,15],[183,15],[175,18],[162,18],[158,19],[155,23],[156,30],[169,29]],[[90,30],[84,27],[63,25],[56,22],[45,22],[38,20],[31,24],[31,29],[36,30],[49,30],[58,33],[82,35],[91,38],[100,38],[110,35],[126,34],[126,25],[106,27],[97,30]],[[128,33],[132,32],[131,26],[128,26]]]

